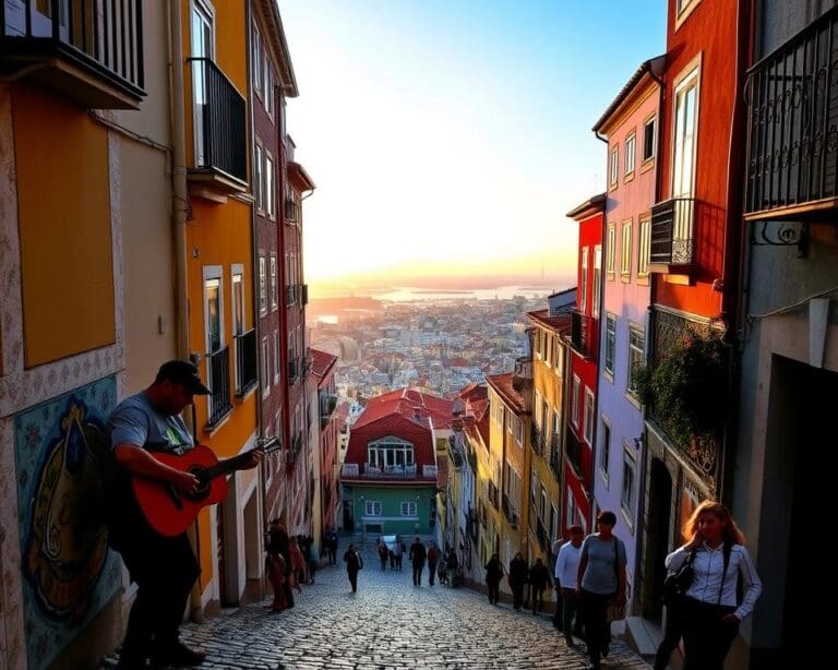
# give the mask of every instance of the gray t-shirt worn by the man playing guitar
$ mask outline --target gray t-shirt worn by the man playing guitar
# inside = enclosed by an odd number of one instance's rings
[[[182,454],[194,446],[192,435],[180,416],[157,411],[145,392],[122,400],[108,420],[110,448],[117,444],[135,444],[149,451]]]

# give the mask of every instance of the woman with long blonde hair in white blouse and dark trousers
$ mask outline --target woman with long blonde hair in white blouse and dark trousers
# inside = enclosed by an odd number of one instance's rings
[[[742,531],[721,503],[699,504],[684,524],[684,536],[693,539],[666,561],[667,570],[674,572],[695,549],[693,583],[683,605],[684,670],[721,670],[739,624],[754,609],[763,585]]]

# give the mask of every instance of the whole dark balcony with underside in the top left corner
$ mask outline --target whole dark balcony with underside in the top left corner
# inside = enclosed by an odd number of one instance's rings
[[[3,0],[0,74],[24,76],[94,109],[145,97],[141,0]]]

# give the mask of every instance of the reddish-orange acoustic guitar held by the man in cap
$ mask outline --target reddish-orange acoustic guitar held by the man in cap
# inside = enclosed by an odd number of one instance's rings
[[[259,440],[254,447],[265,454],[279,448],[282,443],[276,438]],[[180,455],[171,452],[153,452],[153,455],[165,465],[192,472],[200,482],[193,493],[183,493],[165,481],[146,477],[131,478],[134,496],[148,525],[160,535],[173,537],[189,528],[203,507],[224,500],[227,495],[227,480],[224,475],[239,469],[250,457],[250,452],[218,460],[210,447],[196,444]]]

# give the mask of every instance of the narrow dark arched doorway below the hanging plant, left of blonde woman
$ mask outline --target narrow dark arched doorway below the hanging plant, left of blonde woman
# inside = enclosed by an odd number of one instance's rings
[[[644,574],[643,615],[660,619],[663,613],[663,559],[669,552],[669,526],[672,511],[672,476],[660,458],[651,459],[649,469],[649,514],[646,529],[646,565]]]

